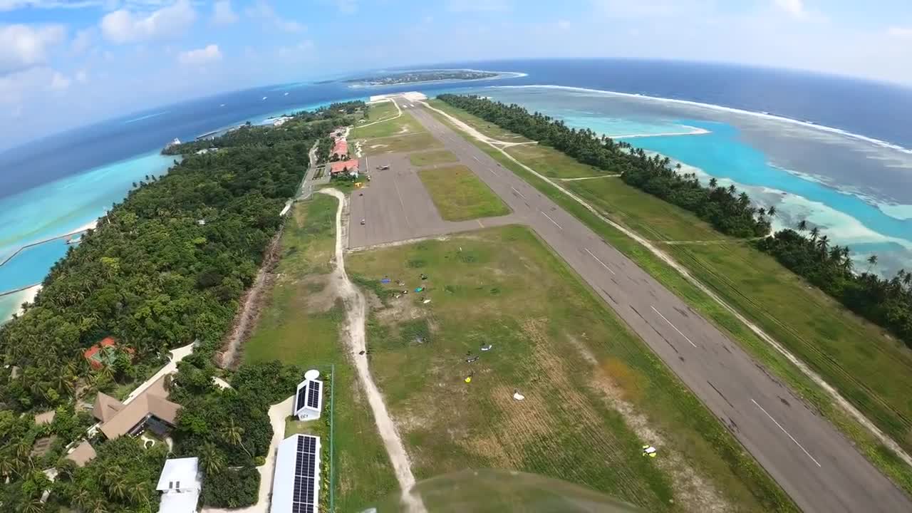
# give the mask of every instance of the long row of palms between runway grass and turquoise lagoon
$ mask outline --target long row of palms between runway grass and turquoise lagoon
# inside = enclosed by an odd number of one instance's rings
[[[671,167],[668,157],[648,156],[625,141],[599,137],[588,129],[569,128],[562,120],[539,112],[530,114],[519,105],[504,105],[478,96],[443,94],[438,98],[565,152],[579,162],[608,173],[619,173],[626,183],[696,213],[724,234],[750,237],[770,232],[766,213],[751,206],[751,198],[746,193],[737,194],[734,186],[719,188],[715,183],[704,187],[694,174],[680,174],[680,164]]]

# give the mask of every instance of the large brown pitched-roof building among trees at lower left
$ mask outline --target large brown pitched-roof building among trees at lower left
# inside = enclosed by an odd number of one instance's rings
[[[165,377],[161,376],[127,404],[98,393],[92,414],[101,421],[101,432],[113,440],[124,434],[137,434],[146,428],[160,433],[173,426],[181,405],[168,401],[164,380]]]

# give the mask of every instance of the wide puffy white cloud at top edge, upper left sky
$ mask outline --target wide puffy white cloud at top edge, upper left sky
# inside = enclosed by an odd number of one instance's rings
[[[119,9],[101,18],[101,33],[113,43],[133,43],[181,34],[196,20],[187,0],[162,7],[149,15]]]

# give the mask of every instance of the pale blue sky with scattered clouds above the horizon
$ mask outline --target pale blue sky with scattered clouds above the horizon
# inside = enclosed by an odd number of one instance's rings
[[[912,3],[0,0],[0,136],[361,68],[570,57],[738,62],[912,85]]]

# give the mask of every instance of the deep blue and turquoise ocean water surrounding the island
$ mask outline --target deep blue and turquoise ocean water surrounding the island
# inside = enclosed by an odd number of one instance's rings
[[[668,154],[698,173],[743,186],[760,203],[777,204],[782,225],[799,216],[808,218],[842,233],[856,250],[893,251],[891,267],[912,258],[903,246],[905,240],[912,245],[912,221],[906,219],[912,212],[904,206],[912,204],[910,153],[733,111],[571,89],[489,86],[568,86],[689,100],[811,121],[912,148],[910,89],[794,71],[668,61],[526,60],[448,63],[440,68],[527,75],[366,89],[338,82],[266,86],[133,112],[2,151],[0,261],[17,247],[85,225],[119,201],[131,183],[145,174],[165,172],[171,159],[157,152],[175,137],[188,140],[329,101],[413,89],[429,96],[445,90],[479,91],[609,135],[705,128],[711,133],[630,141]],[[838,239],[835,235],[831,238]],[[0,267],[0,291],[39,282],[65,251],[65,245],[54,244],[18,255]],[[885,260],[891,262],[890,257]],[[0,310],[13,301],[0,298]],[[0,319],[4,314],[0,311]]]

